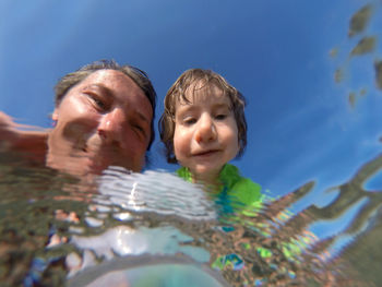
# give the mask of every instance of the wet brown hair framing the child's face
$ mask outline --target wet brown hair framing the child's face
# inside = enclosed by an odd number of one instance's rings
[[[201,85],[196,85],[201,83]],[[225,96],[229,97],[230,108],[234,112],[236,124],[238,127],[238,142],[240,150],[237,157],[240,157],[247,146],[247,120],[244,115],[246,99],[239,91],[228,84],[228,82],[219,74],[203,69],[191,69],[183,72],[178,80],[168,89],[165,97],[165,111],[162,115],[158,129],[160,140],[166,147],[167,162],[170,164],[177,163],[174,154],[174,132],[175,132],[175,113],[176,104],[178,101],[190,103],[186,97],[186,92],[193,87],[192,95],[195,91],[203,89],[215,85],[223,91]]]

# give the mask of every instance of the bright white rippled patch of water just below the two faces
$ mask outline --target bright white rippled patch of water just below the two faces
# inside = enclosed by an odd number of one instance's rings
[[[127,211],[154,212],[187,219],[210,220],[216,212],[203,190],[179,177],[164,171],[144,174],[108,169],[98,180],[99,204],[114,204]],[[108,203],[109,202],[109,203]]]

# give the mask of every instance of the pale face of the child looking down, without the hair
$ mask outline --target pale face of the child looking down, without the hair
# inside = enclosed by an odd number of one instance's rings
[[[216,180],[222,167],[239,152],[230,99],[215,85],[194,93],[191,86],[186,97],[190,103],[176,104],[176,158],[195,179]]]

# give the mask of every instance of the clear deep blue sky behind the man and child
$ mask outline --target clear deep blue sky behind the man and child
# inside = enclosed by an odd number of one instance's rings
[[[348,59],[362,36],[348,38],[349,19],[369,2],[2,0],[0,110],[49,127],[57,80],[91,61],[115,59],[148,73],[158,94],[157,122],[181,72],[212,69],[248,99],[248,148],[235,162],[242,174],[274,194],[318,180],[311,195],[318,200],[381,151],[382,91],[372,68],[381,44]],[[380,13],[363,35],[378,36]],[[346,73],[336,84],[338,67]],[[366,96],[351,108],[348,94],[362,87]],[[156,141],[151,168],[175,170],[162,148]]]

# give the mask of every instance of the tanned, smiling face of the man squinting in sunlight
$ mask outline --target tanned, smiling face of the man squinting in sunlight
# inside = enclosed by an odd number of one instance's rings
[[[141,171],[151,139],[153,110],[126,74],[99,70],[73,86],[56,107],[47,165],[74,175],[108,166]]]

